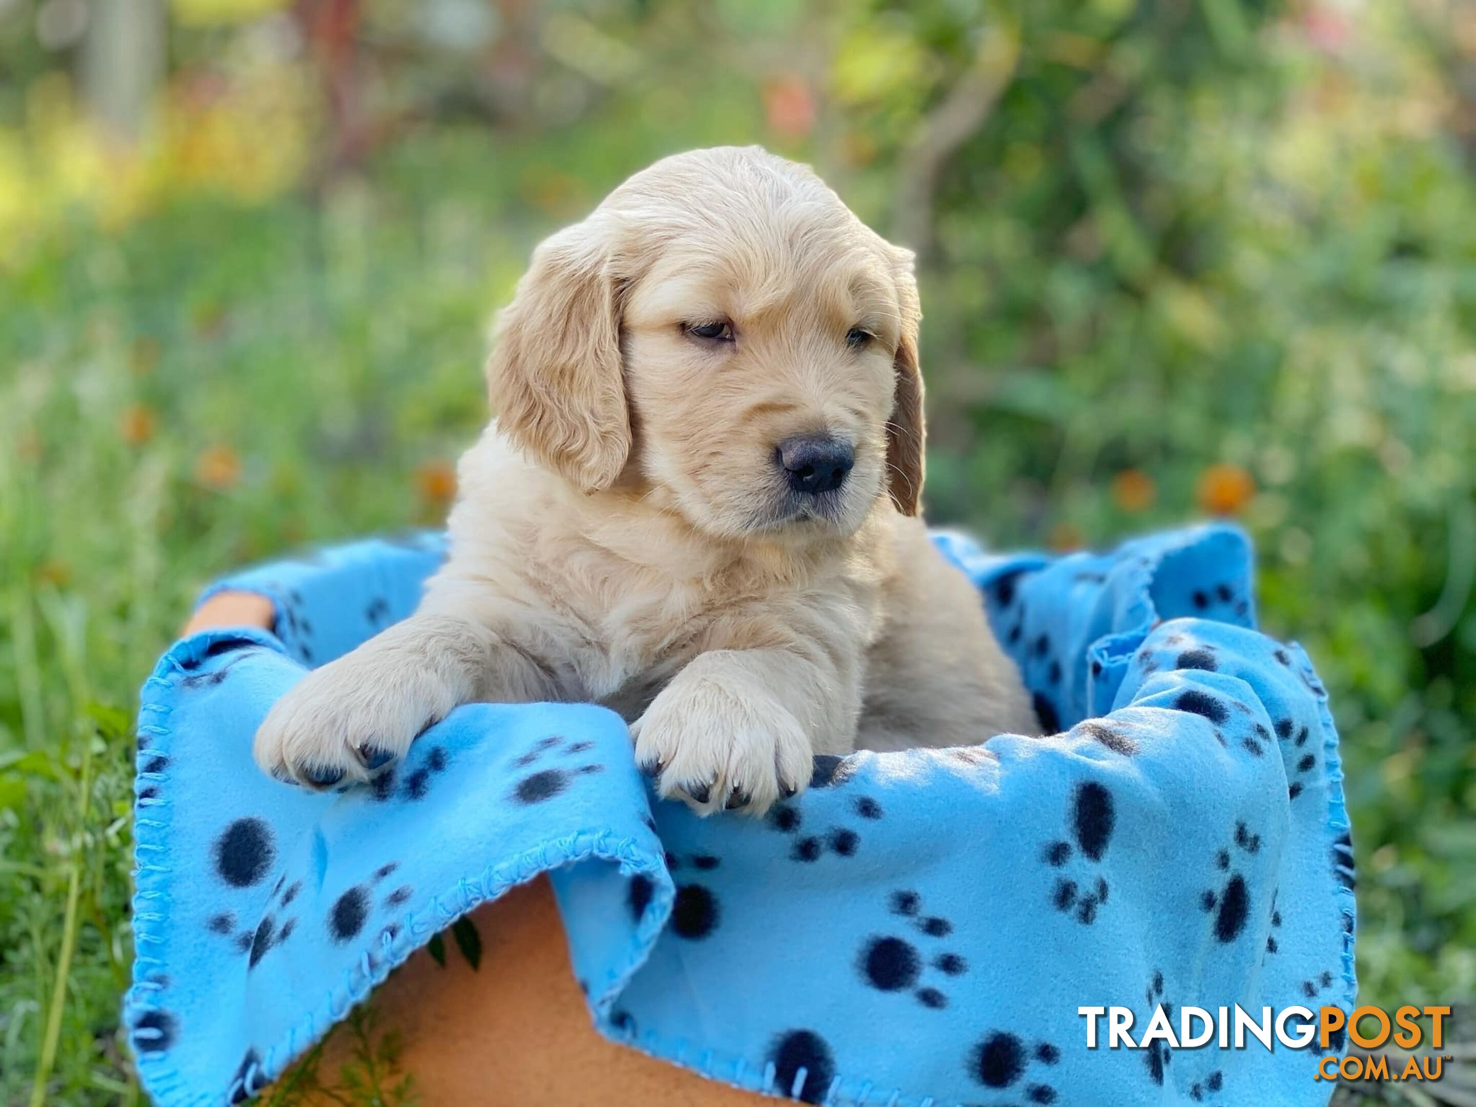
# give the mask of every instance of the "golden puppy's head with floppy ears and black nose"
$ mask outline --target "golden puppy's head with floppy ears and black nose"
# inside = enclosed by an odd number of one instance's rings
[[[915,515],[912,255],[809,170],[695,151],[533,255],[489,363],[499,428],[577,487],[620,486],[722,537]]]

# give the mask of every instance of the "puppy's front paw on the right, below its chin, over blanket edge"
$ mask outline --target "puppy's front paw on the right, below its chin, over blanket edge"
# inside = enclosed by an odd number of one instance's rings
[[[630,735],[657,791],[700,815],[763,815],[810,779],[810,739],[790,711],[691,667],[651,701]]]

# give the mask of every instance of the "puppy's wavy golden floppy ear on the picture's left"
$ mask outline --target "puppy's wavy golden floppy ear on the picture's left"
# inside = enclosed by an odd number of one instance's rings
[[[533,251],[487,362],[497,428],[584,492],[630,453],[613,235],[596,211]]]

